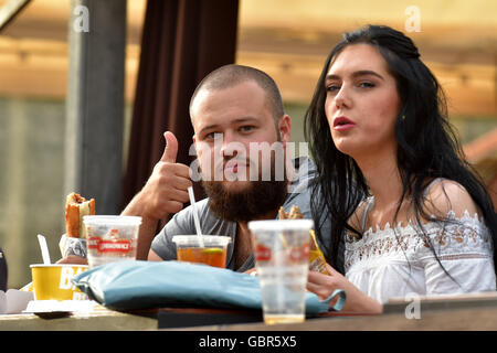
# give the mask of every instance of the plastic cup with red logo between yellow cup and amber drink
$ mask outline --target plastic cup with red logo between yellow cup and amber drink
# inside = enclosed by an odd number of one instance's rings
[[[84,216],[89,268],[118,260],[136,259],[141,217]]]

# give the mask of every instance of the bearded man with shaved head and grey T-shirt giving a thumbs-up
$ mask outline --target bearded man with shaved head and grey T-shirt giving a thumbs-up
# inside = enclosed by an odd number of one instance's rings
[[[198,170],[177,163],[178,141],[165,132],[166,149],[144,189],[123,215],[142,217],[137,259],[176,259],[175,235],[195,234],[189,201],[191,178],[201,178],[207,199],[197,202],[201,232],[231,237],[226,268],[254,267],[250,221],[277,218],[281,206],[310,214],[315,167],[307,157],[290,159],[292,120],[284,113],[277,85],[264,72],[222,66],[199,84],[190,101]],[[195,174],[197,172],[197,174]],[[175,214],[155,234],[160,220]],[[327,215],[316,232],[330,233]]]

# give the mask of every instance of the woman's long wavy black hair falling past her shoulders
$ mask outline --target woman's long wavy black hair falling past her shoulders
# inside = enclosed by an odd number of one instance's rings
[[[417,47],[411,39],[389,26],[367,25],[345,33],[343,40],[330,52],[305,116],[304,131],[318,171],[313,185],[311,210],[316,215],[315,222],[322,222],[322,214],[328,212],[331,216],[330,243],[325,243],[324,239],[329,239],[329,236],[320,234],[319,226],[316,227],[327,260],[341,269],[338,259],[342,256],[339,248],[342,247],[343,231],[361,236],[361,229],[352,228],[348,220],[369,195],[368,184],[356,161],[336,148],[325,113],[325,78],[330,63],[347,45],[358,43],[371,44],[379,50],[395,78],[402,103],[395,122],[395,137],[403,192],[395,220],[402,201],[409,197],[416,212],[417,224],[422,227],[417,215],[430,220],[423,207],[426,183],[435,178],[446,178],[458,182],[470,194],[495,245],[497,217],[490,197],[464,158],[456,133],[448,122],[445,96],[438,82],[420,60]]]

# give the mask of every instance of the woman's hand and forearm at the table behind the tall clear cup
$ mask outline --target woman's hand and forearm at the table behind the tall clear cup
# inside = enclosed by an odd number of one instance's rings
[[[335,270],[331,266],[326,264],[328,275],[324,275],[317,271],[309,271],[307,278],[307,290],[318,296],[320,300],[325,300],[331,296],[336,289],[342,289],[347,295],[347,300],[343,306],[343,311],[361,311],[370,313],[381,313],[383,307],[380,302],[376,301],[371,297],[368,297],[352,285],[340,272]],[[338,298],[329,302],[334,306]]]

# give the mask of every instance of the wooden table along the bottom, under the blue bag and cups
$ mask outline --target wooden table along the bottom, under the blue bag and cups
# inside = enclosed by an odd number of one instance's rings
[[[409,319],[409,302],[392,302],[384,307],[380,315],[335,312],[320,318],[308,319],[303,323],[266,325],[261,314],[253,311],[212,310],[212,309],[150,309],[119,312],[97,307],[92,312],[71,315],[9,314],[0,315],[0,331],[438,331],[438,330],[491,330],[497,331],[497,295],[465,296],[453,299],[421,300],[419,319]],[[179,321],[187,314],[224,318],[211,321],[215,324],[181,327]],[[233,323],[230,314],[243,314],[244,323]],[[251,317],[252,314],[252,317]],[[192,318],[193,318],[192,317]],[[189,320],[189,319],[188,319]],[[184,321],[188,324],[193,321]],[[175,323],[175,324],[168,324]],[[209,321],[205,321],[209,322]],[[239,321],[240,322],[240,321]]]

